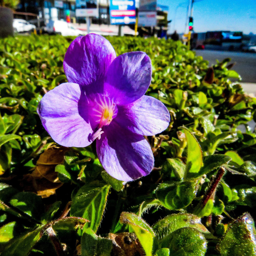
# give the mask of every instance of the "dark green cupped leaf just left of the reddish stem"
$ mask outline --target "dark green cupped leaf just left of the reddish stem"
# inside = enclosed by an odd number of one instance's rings
[[[197,181],[162,183],[156,189],[156,196],[162,205],[170,210],[188,206],[196,196]]]

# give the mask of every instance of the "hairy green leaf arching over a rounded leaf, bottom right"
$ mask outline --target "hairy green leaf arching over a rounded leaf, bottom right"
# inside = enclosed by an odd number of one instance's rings
[[[175,230],[184,227],[196,228],[206,236],[211,236],[208,229],[201,223],[200,218],[188,213],[172,214],[156,222],[152,228],[158,238],[163,238]]]

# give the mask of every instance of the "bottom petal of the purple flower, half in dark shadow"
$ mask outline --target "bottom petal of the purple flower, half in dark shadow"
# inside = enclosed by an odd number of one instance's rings
[[[114,120],[104,126],[96,149],[103,168],[112,177],[130,181],[148,175],[154,166],[154,157],[145,138],[122,128]]]

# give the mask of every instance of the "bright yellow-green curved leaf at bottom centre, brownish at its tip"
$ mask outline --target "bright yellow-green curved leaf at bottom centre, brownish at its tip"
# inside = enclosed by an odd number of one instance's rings
[[[120,222],[128,224],[138,237],[146,256],[152,255],[154,231],[139,216],[130,212],[122,212]]]

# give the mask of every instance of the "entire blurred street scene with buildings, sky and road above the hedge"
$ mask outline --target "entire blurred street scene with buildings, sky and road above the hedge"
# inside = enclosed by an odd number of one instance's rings
[[[0,6],[1,37],[93,32],[172,38],[210,65],[232,58],[242,82],[256,82],[256,0],[2,0]]]

